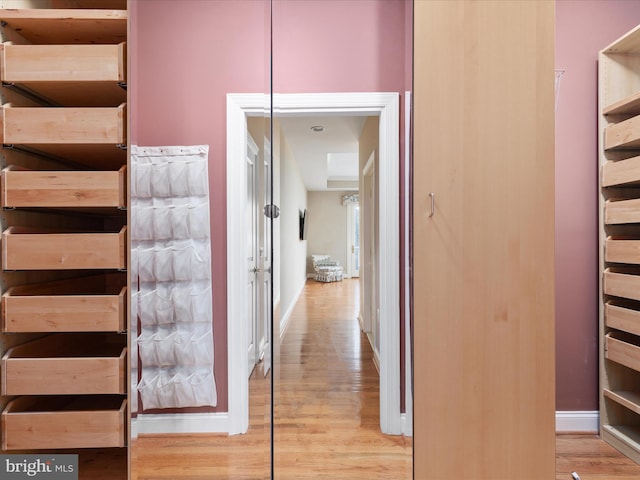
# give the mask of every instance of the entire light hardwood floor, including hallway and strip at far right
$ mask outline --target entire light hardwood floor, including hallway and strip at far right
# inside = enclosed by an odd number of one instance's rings
[[[378,375],[357,295],[357,280],[308,282],[274,352],[277,480],[411,478],[411,439],[378,431]],[[132,480],[269,479],[269,386],[258,367],[246,435],[138,438]],[[559,435],[556,447],[556,480],[572,471],[581,480],[640,479],[640,466],[595,435]]]

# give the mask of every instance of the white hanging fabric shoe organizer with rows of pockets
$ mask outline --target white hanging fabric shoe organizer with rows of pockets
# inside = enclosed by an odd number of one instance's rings
[[[217,403],[208,151],[131,148],[132,354],[144,410]]]

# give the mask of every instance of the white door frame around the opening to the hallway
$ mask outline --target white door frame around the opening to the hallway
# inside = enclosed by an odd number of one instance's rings
[[[379,227],[380,255],[380,428],[401,434],[400,413],[400,223],[399,192],[399,94],[314,93],[274,94],[273,113],[278,116],[377,115],[379,136]],[[245,181],[244,152],[247,116],[269,114],[269,96],[227,95],[227,351],[229,433],[245,433],[249,427],[249,384],[245,375],[247,357],[242,340],[243,251],[246,226],[241,195]],[[242,160],[242,161],[241,161]],[[240,198],[239,198],[240,197]]]

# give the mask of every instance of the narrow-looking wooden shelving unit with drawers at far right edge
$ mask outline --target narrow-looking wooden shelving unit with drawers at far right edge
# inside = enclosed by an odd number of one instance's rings
[[[600,52],[600,435],[640,463],[640,27]]]

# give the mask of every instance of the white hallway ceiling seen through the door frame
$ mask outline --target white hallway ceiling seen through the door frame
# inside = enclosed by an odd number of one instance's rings
[[[358,189],[358,139],[367,117],[279,117],[309,191]],[[322,132],[312,126],[321,125]]]

